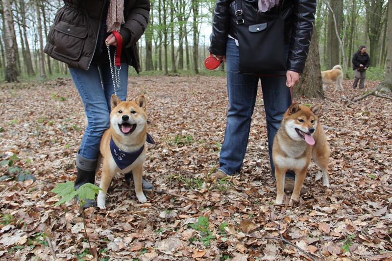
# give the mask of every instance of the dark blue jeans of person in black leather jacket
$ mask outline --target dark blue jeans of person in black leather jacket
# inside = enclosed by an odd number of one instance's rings
[[[286,57],[288,52],[289,45],[286,46]],[[219,158],[219,170],[226,175],[232,175],[234,172],[239,172],[242,167],[256,103],[257,85],[261,80],[267,119],[268,151],[272,175],[274,176],[272,143],[283,114],[292,104],[290,89],[286,86],[286,71],[266,71],[266,74],[281,74],[283,77],[253,76],[252,74],[238,73],[239,49],[231,38],[227,40],[226,63],[229,110]]]

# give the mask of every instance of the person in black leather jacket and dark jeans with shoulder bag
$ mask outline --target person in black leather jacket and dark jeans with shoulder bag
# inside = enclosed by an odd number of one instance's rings
[[[238,73],[239,49],[236,11],[242,13],[245,25],[260,24],[277,18],[279,5],[282,5],[282,17],[285,21],[287,71],[266,71],[263,76]],[[315,11],[316,0],[242,0],[242,11],[237,10],[237,0],[216,1],[209,51],[227,63],[229,109],[219,159],[220,167],[216,173],[212,174],[212,177],[221,179],[226,175],[239,172],[242,167],[259,80],[261,80],[263,91],[270,165],[274,177],[272,142],[283,114],[292,104],[290,89],[287,87],[293,87],[298,82],[299,73],[302,73],[305,67]],[[260,50],[260,52],[273,51],[273,49]],[[276,76],[276,74],[283,77]],[[293,171],[286,173],[286,190],[293,190],[294,178]]]

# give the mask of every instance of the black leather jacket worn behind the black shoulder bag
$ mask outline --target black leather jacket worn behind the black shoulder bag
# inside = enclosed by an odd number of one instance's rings
[[[262,13],[258,0],[242,0],[244,24],[260,24],[278,17],[277,6]],[[279,3],[280,4],[280,3]],[[210,35],[210,52],[226,54],[227,37],[237,38],[237,0],[217,0],[214,10],[213,30]],[[316,0],[284,0],[282,16],[285,20],[285,44],[290,44],[287,70],[303,72],[312,38]],[[273,51],[273,50],[261,50]]]

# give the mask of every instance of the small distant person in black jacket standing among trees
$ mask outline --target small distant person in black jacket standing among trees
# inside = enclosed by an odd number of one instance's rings
[[[364,89],[366,70],[370,66],[370,57],[366,52],[366,46],[360,46],[358,51],[352,56],[352,70],[354,70],[355,78],[352,84],[352,88],[357,88],[358,81],[359,89]]]

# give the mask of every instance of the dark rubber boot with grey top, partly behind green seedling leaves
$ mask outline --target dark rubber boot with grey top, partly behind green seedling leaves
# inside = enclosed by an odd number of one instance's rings
[[[80,186],[86,183],[95,183],[95,173],[98,165],[98,159],[90,160],[80,156],[77,154],[76,156],[76,168],[77,168],[77,177],[75,179],[74,187],[75,189],[79,189]],[[79,198],[76,196],[76,200]],[[86,203],[83,204],[83,209],[89,207],[97,207],[97,201],[95,199],[87,199],[84,201]]]

